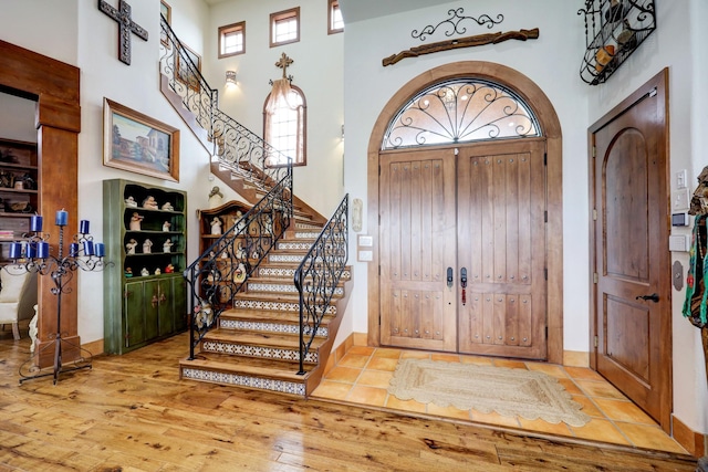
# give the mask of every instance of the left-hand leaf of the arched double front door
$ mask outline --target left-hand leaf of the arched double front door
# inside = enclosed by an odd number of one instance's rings
[[[457,350],[455,160],[451,150],[391,153],[381,159],[382,344]]]

